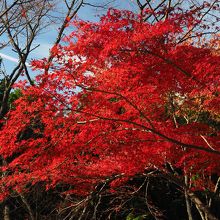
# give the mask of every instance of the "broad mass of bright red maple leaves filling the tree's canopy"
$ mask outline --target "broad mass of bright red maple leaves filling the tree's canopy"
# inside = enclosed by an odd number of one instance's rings
[[[175,16],[153,25],[109,10],[98,23],[74,25],[68,45],[52,48],[52,70],[22,89],[0,131],[8,162],[1,192],[43,181],[80,186],[82,194],[111,176],[165,163],[219,174],[218,131],[195,118],[173,119],[196,115],[200,98],[200,112],[220,114],[220,57],[176,45],[182,30]]]

